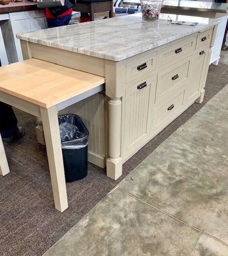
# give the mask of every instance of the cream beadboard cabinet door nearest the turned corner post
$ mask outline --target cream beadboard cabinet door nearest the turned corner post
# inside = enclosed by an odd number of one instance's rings
[[[152,105],[155,98],[155,75],[126,89],[124,156],[129,156],[149,138]]]

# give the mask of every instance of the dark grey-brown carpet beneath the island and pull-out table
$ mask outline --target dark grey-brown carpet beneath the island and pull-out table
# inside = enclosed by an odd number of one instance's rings
[[[35,139],[35,118],[16,110],[26,136],[20,142],[4,145],[11,172],[0,177],[0,255],[39,256],[46,252],[227,82],[226,64],[210,66],[204,102],[193,104],[130,158],[117,181],[107,178],[105,170],[89,164],[85,179],[67,184],[69,208],[63,214],[53,206],[45,147]]]

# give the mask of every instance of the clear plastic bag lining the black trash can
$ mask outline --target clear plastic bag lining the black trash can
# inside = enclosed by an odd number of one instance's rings
[[[78,149],[88,145],[88,130],[74,114],[58,116],[62,149]]]

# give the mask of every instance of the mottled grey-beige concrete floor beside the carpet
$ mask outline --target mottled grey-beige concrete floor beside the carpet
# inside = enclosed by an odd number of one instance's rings
[[[45,256],[227,256],[228,85]]]

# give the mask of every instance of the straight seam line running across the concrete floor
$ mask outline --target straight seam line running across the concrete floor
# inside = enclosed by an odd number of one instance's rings
[[[122,191],[122,192],[124,192],[124,193],[126,193],[126,194],[128,194],[129,196],[132,196],[133,198],[137,199],[138,201],[143,202],[144,204],[147,204],[148,206],[150,206],[150,207],[152,207],[152,208],[158,210],[159,212],[162,212],[162,213],[166,214],[167,216],[169,216],[169,217],[171,217],[171,218],[173,218],[173,219],[175,219],[175,220],[177,220],[177,221],[179,221],[179,222],[181,222],[181,223],[183,223],[183,224],[189,226],[190,228],[193,228],[193,229],[199,231],[200,233],[202,233],[202,234],[204,234],[204,235],[206,235],[206,236],[209,236],[210,238],[213,238],[214,240],[216,240],[216,241],[218,241],[218,242],[220,242],[220,243],[222,243],[222,244],[228,246],[228,244],[226,244],[226,243],[223,242],[222,240],[216,238],[215,236],[212,236],[212,235],[210,235],[210,234],[208,234],[208,233],[206,233],[206,232],[200,230],[199,228],[196,228],[196,227],[192,226],[191,224],[188,224],[187,222],[184,222],[183,220],[180,220],[180,219],[176,218],[175,216],[173,216],[173,215],[171,215],[171,214],[169,214],[169,213],[167,213],[167,212],[165,212],[165,211],[163,211],[163,210],[157,208],[156,206],[153,206],[152,204],[149,204],[149,203],[143,201],[142,199],[140,199],[140,198],[138,198],[138,197],[132,195],[131,193],[129,193],[129,192],[125,191],[125,190],[123,190],[122,188],[118,187],[117,189],[120,190],[120,191]]]

